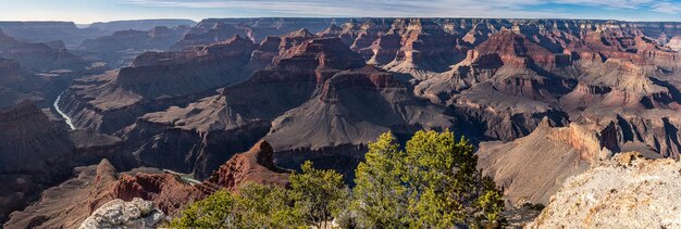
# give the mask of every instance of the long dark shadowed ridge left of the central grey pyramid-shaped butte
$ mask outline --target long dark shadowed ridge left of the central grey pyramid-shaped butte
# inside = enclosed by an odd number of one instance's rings
[[[123,136],[145,164],[203,178],[262,138],[273,118],[309,100],[318,81],[362,65],[338,39],[307,39],[220,96],[147,114]]]

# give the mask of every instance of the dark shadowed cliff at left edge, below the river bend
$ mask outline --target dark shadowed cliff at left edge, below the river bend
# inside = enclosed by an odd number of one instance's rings
[[[30,102],[0,112],[0,217],[21,209],[47,187],[66,179],[73,167],[111,158],[131,166],[119,138],[69,132]],[[134,163],[134,162],[133,162]]]

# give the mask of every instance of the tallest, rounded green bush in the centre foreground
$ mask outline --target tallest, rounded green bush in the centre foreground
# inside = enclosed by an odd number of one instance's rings
[[[357,168],[351,207],[366,228],[482,227],[499,219],[502,192],[475,168],[466,139],[418,131],[399,150],[388,132],[369,144]]]

